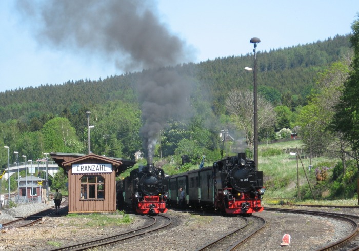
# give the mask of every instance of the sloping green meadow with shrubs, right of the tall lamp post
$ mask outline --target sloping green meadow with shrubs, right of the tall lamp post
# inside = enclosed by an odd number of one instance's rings
[[[299,157],[296,159],[296,149]],[[324,205],[358,205],[357,188],[351,196],[337,196],[333,189],[335,166],[340,159],[304,153],[301,140],[258,146],[258,170],[263,171],[267,204],[296,203]],[[309,169],[309,165],[312,167]],[[322,173],[325,175],[322,175]],[[339,178],[337,178],[339,180]],[[299,180],[299,189],[297,186]],[[353,181],[352,183],[356,183]]]

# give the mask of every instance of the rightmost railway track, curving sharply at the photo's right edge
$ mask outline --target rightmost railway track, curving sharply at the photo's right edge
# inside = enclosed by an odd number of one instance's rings
[[[265,208],[266,211],[275,211],[280,213],[291,213],[291,214],[307,214],[313,216],[320,216],[324,218],[333,218],[336,220],[343,221],[349,224],[352,228],[352,231],[349,235],[344,236],[342,239],[330,243],[329,245],[323,246],[316,249],[316,251],[322,250],[359,250],[359,216],[322,212],[322,211],[312,211],[312,210],[294,210],[294,209],[282,209],[282,208]]]

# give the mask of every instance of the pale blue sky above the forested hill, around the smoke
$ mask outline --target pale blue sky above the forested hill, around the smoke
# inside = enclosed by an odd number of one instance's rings
[[[345,35],[359,12],[357,0],[153,3],[159,22],[193,49],[193,62],[250,53],[252,37],[261,39],[257,51],[269,51]],[[17,10],[16,1],[0,1],[0,92],[68,80],[98,80],[125,72],[101,53],[42,43],[42,37]]]

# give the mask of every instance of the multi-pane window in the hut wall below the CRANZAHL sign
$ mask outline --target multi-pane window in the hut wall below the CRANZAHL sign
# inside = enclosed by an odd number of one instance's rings
[[[101,175],[84,175],[81,178],[81,200],[103,200],[105,179]]]

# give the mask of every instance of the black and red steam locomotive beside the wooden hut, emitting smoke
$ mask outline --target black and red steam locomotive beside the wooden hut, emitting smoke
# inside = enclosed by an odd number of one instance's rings
[[[167,180],[163,169],[153,164],[139,166],[116,184],[119,210],[131,207],[139,214],[166,213]]]

